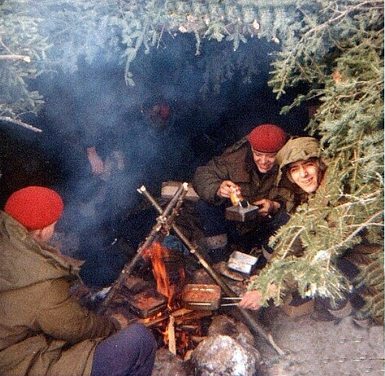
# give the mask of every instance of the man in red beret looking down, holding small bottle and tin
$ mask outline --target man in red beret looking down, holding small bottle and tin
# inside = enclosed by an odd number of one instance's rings
[[[276,187],[275,162],[287,138],[279,126],[256,126],[247,137],[195,171],[193,187],[202,199],[197,210],[204,227],[205,246],[213,260],[227,257],[228,237],[247,251],[265,243],[288,220],[285,205],[290,192]],[[259,205],[259,219],[254,223],[234,225],[224,219],[225,207],[231,205],[229,198],[234,191],[249,203]]]

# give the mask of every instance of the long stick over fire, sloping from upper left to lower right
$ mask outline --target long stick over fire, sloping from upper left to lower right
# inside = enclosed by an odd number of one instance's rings
[[[156,200],[151,196],[151,194],[149,194],[149,192],[147,191],[147,189],[145,189],[145,187],[141,187],[140,189],[138,189],[138,192],[140,194],[144,194],[145,197],[156,208],[156,210],[158,210],[160,214],[164,213],[162,207],[158,205]],[[190,253],[195,255],[195,257],[197,257],[200,264],[202,264],[202,266],[206,269],[208,274],[211,275],[211,277],[213,277],[213,280],[215,280],[215,282],[219,284],[219,286],[222,288],[222,291],[224,291],[224,293],[231,298],[237,298],[238,296],[236,295],[236,293],[234,293],[234,291],[232,291],[227,286],[227,284],[222,280],[220,275],[218,275],[218,273],[216,273],[213,270],[213,268],[208,264],[208,262],[206,262],[206,259],[204,259],[204,257],[199,253],[199,250],[197,250],[197,248],[190,243],[190,241],[184,236],[184,234],[181,232],[181,230],[179,230],[178,226],[175,223],[172,223],[172,229],[178,235],[181,241],[183,241],[183,243],[186,244],[186,246],[190,250]],[[236,306],[236,308],[238,309],[240,314],[242,314],[243,318],[245,318],[245,321],[247,321],[248,325],[252,328],[253,332],[261,335],[263,339],[268,341],[268,343],[272,346],[272,348],[274,348],[278,352],[278,354],[280,355],[284,354],[284,351],[281,350],[281,348],[279,348],[279,346],[275,343],[274,339],[272,338],[272,334],[266,333],[265,330],[261,328],[259,323],[257,323],[254,320],[254,318],[251,316],[251,314],[249,314],[249,312],[246,309],[240,308],[238,305]]]

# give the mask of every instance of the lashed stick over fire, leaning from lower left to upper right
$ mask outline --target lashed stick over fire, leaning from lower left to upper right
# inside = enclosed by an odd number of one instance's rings
[[[106,298],[101,303],[99,312],[103,312],[106,307],[108,307],[108,304],[111,302],[111,300],[113,300],[118,291],[120,291],[122,284],[124,284],[126,275],[131,274],[133,267],[136,266],[136,263],[140,257],[142,257],[142,253],[147,250],[147,248],[149,248],[154,239],[161,235],[161,231],[163,231],[163,235],[169,232],[170,227],[172,226],[172,222],[174,221],[175,216],[178,214],[178,210],[181,207],[183,198],[186,196],[186,193],[187,183],[183,183],[177,190],[177,193],[174,195],[174,197],[170,200],[170,203],[168,203],[167,207],[165,207],[165,210],[161,210],[161,215],[156,219],[154,227],[151,229],[149,235],[142,243],[142,246],[139,247],[136,255],[133,257],[133,259],[131,259],[131,262],[124,266],[120,276],[117,278],[117,280],[115,280],[110,288],[110,291],[108,291]]]

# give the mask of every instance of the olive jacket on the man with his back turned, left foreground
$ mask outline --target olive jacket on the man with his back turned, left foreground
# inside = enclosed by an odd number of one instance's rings
[[[90,375],[97,343],[117,328],[69,295],[78,271],[0,212],[1,376]]]

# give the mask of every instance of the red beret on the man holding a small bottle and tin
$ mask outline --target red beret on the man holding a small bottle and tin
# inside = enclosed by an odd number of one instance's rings
[[[286,133],[279,126],[263,124],[254,128],[248,139],[255,151],[277,153],[286,144]]]

